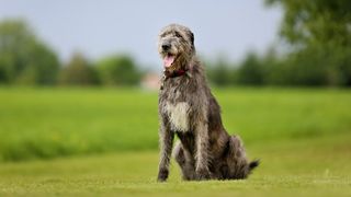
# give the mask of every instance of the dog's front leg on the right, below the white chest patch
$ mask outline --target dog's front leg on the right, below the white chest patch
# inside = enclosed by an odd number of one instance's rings
[[[211,177],[208,170],[208,126],[200,123],[196,126],[196,175],[199,179]]]

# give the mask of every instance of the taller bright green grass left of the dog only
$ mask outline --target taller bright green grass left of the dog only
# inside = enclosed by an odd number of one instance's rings
[[[0,95],[4,161],[157,149],[155,93],[2,89]]]

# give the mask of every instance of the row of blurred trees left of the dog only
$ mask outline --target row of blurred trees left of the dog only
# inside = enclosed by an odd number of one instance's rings
[[[21,20],[0,22],[0,84],[137,85],[141,72],[126,55],[92,62],[75,53],[67,63]]]

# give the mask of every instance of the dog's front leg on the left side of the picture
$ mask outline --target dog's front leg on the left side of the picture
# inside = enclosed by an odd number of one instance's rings
[[[162,120],[160,130],[160,163],[158,171],[158,182],[165,182],[168,178],[169,174],[169,163],[173,147],[174,134],[166,126],[165,120]]]

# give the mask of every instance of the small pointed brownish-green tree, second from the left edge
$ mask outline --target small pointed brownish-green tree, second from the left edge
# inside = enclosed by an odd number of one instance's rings
[[[80,53],[75,53],[59,74],[59,83],[64,85],[94,85],[99,83],[94,67]]]

